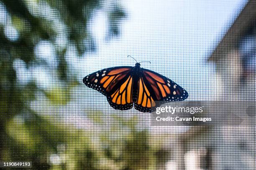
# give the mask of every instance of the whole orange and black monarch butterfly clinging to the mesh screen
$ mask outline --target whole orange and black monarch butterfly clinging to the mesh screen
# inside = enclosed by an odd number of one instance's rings
[[[140,67],[121,66],[99,70],[83,78],[83,82],[108,99],[118,110],[134,107],[141,112],[152,112],[155,101],[182,101],[188,93],[172,80],[154,71]]]

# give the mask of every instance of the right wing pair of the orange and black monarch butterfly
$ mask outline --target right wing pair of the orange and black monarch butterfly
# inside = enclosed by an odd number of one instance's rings
[[[188,93],[172,80],[154,71],[141,68],[138,79],[138,97],[134,106],[141,112],[152,112],[156,106],[155,101],[182,101]]]

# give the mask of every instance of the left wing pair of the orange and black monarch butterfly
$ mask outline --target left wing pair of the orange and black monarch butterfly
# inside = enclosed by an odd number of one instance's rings
[[[133,107],[131,76],[133,67],[111,67],[94,72],[84,77],[83,82],[103,95],[107,96],[109,104],[119,110]]]

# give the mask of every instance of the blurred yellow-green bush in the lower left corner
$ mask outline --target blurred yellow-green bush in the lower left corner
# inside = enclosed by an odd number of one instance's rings
[[[85,130],[37,114],[13,117],[6,128],[9,148],[4,160],[32,160],[32,168],[38,169],[97,169],[93,167],[100,150]]]

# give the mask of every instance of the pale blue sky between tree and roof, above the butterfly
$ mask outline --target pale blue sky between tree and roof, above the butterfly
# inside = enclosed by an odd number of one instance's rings
[[[110,1],[111,2],[111,1]],[[245,0],[129,0],[121,1],[128,18],[123,20],[121,35],[105,41],[110,4],[96,11],[91,21],[98,51],[87,53],[73,63],[79,80],[107,67],[129,65],[159,72],[189,92],[188,100],[215,97],[215,65],[207,57],[232,25]],[[70,58],[71,61],[74,61]],[[78,62],[78,63],[77,63]]]

